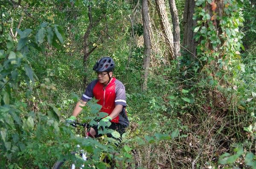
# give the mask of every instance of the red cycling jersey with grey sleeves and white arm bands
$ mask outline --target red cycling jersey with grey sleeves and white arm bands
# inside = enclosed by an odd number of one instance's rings
[[[113,118],[111,122],[120,123],[125,126],[129,125],[126,107],[125,86],[113,77],[112,81],[107,85],[103,85],[98,80],[90,82],[87,86],[81,99],[83,101],[89,101],[95,97],[98,100],[97,104],[102,105],[102,109],[99,112],[105,112],[110,115],[116,105],[121,104],[123,106],[121,113],[116,118]]]

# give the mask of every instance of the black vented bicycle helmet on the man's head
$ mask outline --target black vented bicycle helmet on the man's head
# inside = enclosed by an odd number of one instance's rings
[[[93,67],[97,72],[112,72],[115,68],[115,63],[111,57],[102,57]]]

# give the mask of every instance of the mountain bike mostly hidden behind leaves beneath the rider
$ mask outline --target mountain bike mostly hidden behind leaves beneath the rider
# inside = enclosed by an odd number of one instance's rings
[[[87,123],[74,122],[73,124],[70,124],[70,125],[72,125],[73,127],[81,126],[81,127],[86,128],[86,129],[89,128],[89,124],[87,124]],[[77,145],[77,147],[80,148],[79,145]],[[69,154],[66,155],[66,158],[67,158],[68,155]],[[70,152],[70,155],[74,155],[74,156],[79,155],[82,158],[83,161],[87,161],[87,158],[88,158],[87,157],[87,152],[85,150],[83,150],[83,149],[80,149],[79,151],[76,151],[76,152]],[[64,164],[64,162],[66,161],[66,158],[63,158],[63,159],[60,159],[60,160],[56,161],[54,166],[52,167],[52,169],[60,169],[62,164]],[[72,163],[71,169],[75,169],[75,168],[76,168],[75,164]],[[80,169],[83,169],[83,168],[84,168],[84,164],[82,164],[80,166]]]

